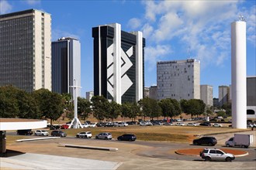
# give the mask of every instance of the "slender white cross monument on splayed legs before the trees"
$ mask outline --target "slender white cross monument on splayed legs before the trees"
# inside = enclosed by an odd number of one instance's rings
[[[73,98],[74,98],[74,118],[71,121],[71,124],[69,125],[68,128],[71,128],[71,126],[73,125],[73,128],[77,129],[77,128],[83,128],[81,125],[81,122],[78,119],[78,97],[77,97],[77,90],[78,88],[81,87],[77,87],[76,86],[76,82],[74,79],[74,86],[70,86],[71,88],[73,88]]]

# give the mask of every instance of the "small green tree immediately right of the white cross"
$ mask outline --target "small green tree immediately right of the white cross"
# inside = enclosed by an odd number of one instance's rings
[[[92,112],[91,103],[85,98],[78,97],[78,115],[85,121]]]

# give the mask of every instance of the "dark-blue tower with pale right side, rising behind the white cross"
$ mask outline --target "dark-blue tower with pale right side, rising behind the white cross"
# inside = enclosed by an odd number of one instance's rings
[[[71,93],[71,86],[81,86],[81,45],[78,39],[63,37],[52,46],[52,83],[53,91]],[[77,96],[80,97],[80,88]]]

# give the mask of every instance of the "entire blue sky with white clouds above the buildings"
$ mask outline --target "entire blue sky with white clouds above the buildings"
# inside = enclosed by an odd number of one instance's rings
[[[92,27],[117,22],[146,38],[145,86],[157,84],[157,61],[201,61],[201,84],[231,83],[230,23],[247,21],[247,76],[255,76],[256,1],[36,1],[0,0],[1,14],[36,8],[52,15],[52,41],[81,42],[81,96],[93,90]]]

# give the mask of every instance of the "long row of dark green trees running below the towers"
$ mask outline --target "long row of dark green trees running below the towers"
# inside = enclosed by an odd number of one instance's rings
[[[78,97],[78,117],[86,120],[91,114],[98,120],[114,121],[117,117],[127,117],[135,121],[137,117],[177,117],[182,113],[191,117],[205,113],[206,104],[202,100],[160,101],[144,98],[134,103],[117,104],[102,96],[92,97],[91,102]],[[65,115],[65,116],[64,116]],[[0,87],[0,117],[19,117],[29,119],[50,119],[57,121],[61,116],[70,119],[74,116],[74,106],[70,94],[54,93],[47,89],[27,93],[16,87]]]

